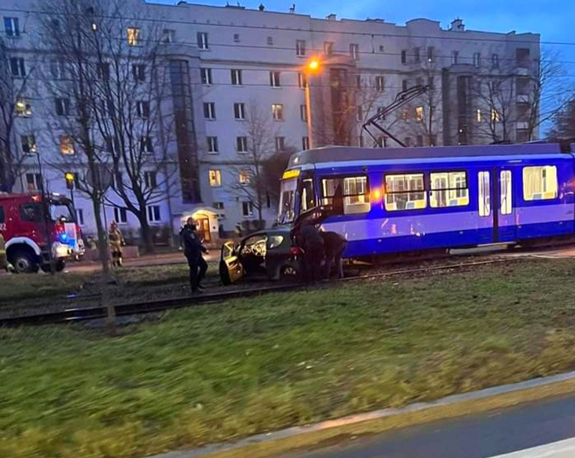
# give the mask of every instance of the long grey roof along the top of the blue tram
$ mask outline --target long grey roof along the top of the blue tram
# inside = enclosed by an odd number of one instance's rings
[[[575,143],[567,145],[575,152]],[[561,154],[565,151],[559,143],[523,143],[469,146],[435,146],[417,148],[359,148],[351,146],[326,146],[296,152],[290,157],[288,167],[310,163],[344,161],[384,161],[386,159],[441,159],[466,157],[497,157]]]

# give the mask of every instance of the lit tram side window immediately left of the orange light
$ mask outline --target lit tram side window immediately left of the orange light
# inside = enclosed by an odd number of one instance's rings
[[[367,177],[338,177],[321,180],[321,203],[332,205],[338,215],[370,211]]]

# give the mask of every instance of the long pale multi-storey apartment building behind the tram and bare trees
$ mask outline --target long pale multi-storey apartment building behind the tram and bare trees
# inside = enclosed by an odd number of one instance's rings
[[[11,94],[17,112],[9,129],[0,125],[0,132],[8,132],[1,147],[10,143],[18,165],[15,191],[37,189],[43,180],[51,192],[72,193],[80,223],[93,234],[90,199],[64,180],[71,167],[60,161],[67,153],[65,133],[54,133],[62,123],[53,120],[69,108],[55,105],[47,78],[36,76],[54,62],[44,59],[49,52],[39,55],[39,29],[50,12],[38,5],[5,0],[0,7],[0,74],[9,80],[3,93]],[[465,30],[461,20],[443,29],[427,19],[396,25],[186,2],[128,0],[121,16],[117,40],[135,34],[152,40],[151,28],[161,32],[153,40],[161,43],[166,78],[157,101],[163,117],[149,129],[150,140],[137,139],[140,148],[150,143],[150,150],[164,155],[153,180],[152,171],[141,167],[148,173],[142,180],[157,188],[146,212],[158,239],[177,232],[191,214],[208,240],[260,217],[271,224],[277,204],[260,185],[265,158],[328,144],[394,147],[392,139],[374,140],[361,126],[416,85],[428,86],[427,92],[380,120],[408,146],[538,138],[531,87],[540,51],[533,33]],[[314,71],[307,67],[312,59],[319,63]],[[143,105],[138,107],[141,115]],[[137,235],[139,220],[115,191],[118,170],[109,173],[103,216]],[[80,163],[69,171],[86,173]]]

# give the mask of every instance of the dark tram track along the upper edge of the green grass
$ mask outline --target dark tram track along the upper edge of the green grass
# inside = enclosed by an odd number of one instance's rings
[[[177,308],[196,307],[210,303],[220,303],[239,297],[254,297],[274,292],[302,291],[309,288],[330,288],[351,281],[373,280],[385,277],[417,277],[427,274],[446,274],[454,271],[474,269],[479,266],[495,265],[522,260],[523,258],[496,258],[482,261],[457,262],[444,265],[422,266],[420,268],[390,270],[371,274],[360,274],[342,278],[340,280],[323,281],[316,285],[309,284],[281,284],[264,286],[259,288],[234,289],[233,291],[221,291],[205,293],[196,296],[169,297],[163,299],[145,300],[133,303],[113,304],[116,316],[130,316],[164,312]],[[49,325],[85,322],[89,320],[103,319],[106,317],[106,307],[103,305],[93,307],[72,307],[60,311],[49,311],[41,314],[15,315],[0,318],[0,326],[26,326],[26,325]]]

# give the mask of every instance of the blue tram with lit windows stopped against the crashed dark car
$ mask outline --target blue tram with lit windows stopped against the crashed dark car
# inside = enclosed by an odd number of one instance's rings
[[[328,208],[346,257],[573,235],[575,144],[325,147],[294,154],[278,222]]]

